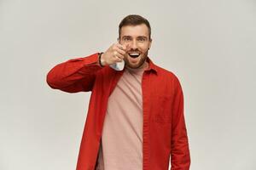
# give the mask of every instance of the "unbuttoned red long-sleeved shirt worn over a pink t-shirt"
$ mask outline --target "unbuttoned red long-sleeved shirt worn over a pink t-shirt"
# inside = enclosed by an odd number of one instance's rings
[[[183,115],[183,91],[177,77],[148,59],[143,73],[143,170],[189,170],[189,143]],[[77,170],[94,170],[102,127],[113,92],[124,71],[98,64],[98,54],[69,59],[47,75],[51,88],[68,93],[91,91]],[[122,153],[120,153],[122,154]],[[125,166],[125,165],[124,165]]]

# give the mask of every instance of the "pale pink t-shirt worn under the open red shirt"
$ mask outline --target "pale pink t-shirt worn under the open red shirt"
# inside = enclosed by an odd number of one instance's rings
[[[142,69],[125,69],[108,99],[97,170],[143,169]]]

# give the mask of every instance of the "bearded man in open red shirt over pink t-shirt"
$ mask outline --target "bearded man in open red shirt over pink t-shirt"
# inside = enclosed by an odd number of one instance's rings
[[[47,75],[51,88],[91,91],[77,170],[189,170],[183,91],[177,77],[148,58],[151,28],[140,15],[119,24],[104,53],[69,59]],[[125,61],[125,69],[109,65]]]

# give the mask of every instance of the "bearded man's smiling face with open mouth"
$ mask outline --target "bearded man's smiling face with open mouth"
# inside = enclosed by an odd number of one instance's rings
[[[120,31],[119,43],[125,47],[125,66],[133,69],[143,67],[151,46],[148,27],[145,24],[123,26]]]

